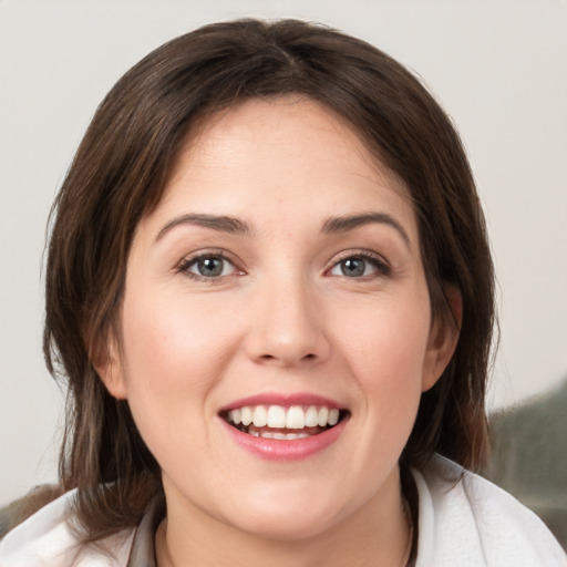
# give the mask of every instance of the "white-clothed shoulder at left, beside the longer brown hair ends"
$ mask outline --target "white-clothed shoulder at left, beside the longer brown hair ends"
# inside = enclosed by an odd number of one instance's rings
[[[72,530],[74,491],[51,502],[0,540],[0,567],[122,567],[134,530],[81,546]]]

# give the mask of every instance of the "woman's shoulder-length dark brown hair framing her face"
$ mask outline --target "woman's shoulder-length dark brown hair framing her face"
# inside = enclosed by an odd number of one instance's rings
[[[401,463],[439,452],[468,468],[488,451],[484,410],[494,275],[473,175],[450,118],[412,73],[374,47],[296,20],[206,25],[127,71],[99,106],[52,209],[44,354],[66,381],[62,489],[86,538],[135,525],[162,491],[159,466],[126,401],[93,365],[118,329],[128,251],[199,123],[250,99],[298,94],[336,113],[405,184],[414,207],[432,317],[454,323],[446,287],[462,297],[454,355],[422,394]]]

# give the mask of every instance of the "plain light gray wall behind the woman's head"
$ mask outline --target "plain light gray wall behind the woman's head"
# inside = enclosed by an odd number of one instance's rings
[[[0,0],[0,504],[55,480],[63,395],[41,353],[44,227],[97,103],[198,25],[298,17],[370,41],[455,121],[485,204],[502,342],[489,408],[567,375],[564,0]]]

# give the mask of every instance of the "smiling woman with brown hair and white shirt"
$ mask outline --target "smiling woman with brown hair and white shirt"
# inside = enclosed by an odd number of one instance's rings
[[[458,136],[400,64],[298,21],[163,45],[55,203],[62,495],[0,565],[566,565],[465,472],[493,316]]]

